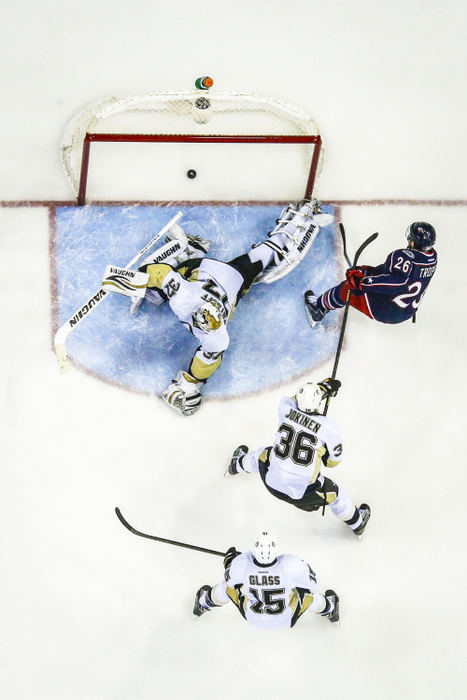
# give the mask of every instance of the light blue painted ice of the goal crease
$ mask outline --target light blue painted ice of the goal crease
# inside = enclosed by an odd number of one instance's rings
[[[56,270],[59,324],[101,284],[106,266],[126,264],[178,211],[187,232],[213,241],[209,255],[229,260],[262,240],[281,206],[195,205],[59,207]],[[325,207],[332,212],[332,207]],[[335,284],[340,269],[336,227],[320,230],[305,260],[287,277],[255,285],[229,324],[230,346],[206,397],[231,397],[277,386],[329,359],[337,346],[339,315],[311,329],[303,306],[309,287]],[[197,342],[171,312],[110,294],[67,339],[75,363],[129,390],[159,394],[179,369],[187,369]]]

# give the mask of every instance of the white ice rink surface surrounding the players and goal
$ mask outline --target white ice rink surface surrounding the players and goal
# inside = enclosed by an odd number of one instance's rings
[[[57,148],[86,102],[205,74],[313,114],[328,144],[323,199],[466,199],[464,2],[49,1],[2,15],[2,200],[70,199]],[[467,203],[348,205],[342,219],[350,250],[380,232],[370,263],[410,221],[432,222],[439,240],[415,326],[350,316],[331,408],[346,455],[332,476],[372,506],[362,542],[255,477],[222,477],[237,444],[272,438],[295,385],[184,420],[60,376],[47,210],[0,209],[2,698],[466,697]],[[233,606],[192,621],[221,560],[134,537],[116,505],[143,531],[220,550],[271,527],[338,591],[341,626],[306,614],[263,633]]]

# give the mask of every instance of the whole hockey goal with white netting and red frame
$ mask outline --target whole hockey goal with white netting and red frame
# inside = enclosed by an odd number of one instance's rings
[[[88,105],[61,158],[79,204],[279,201],[311,196],[324,149],[316,122],[291,105],[194,90]]]

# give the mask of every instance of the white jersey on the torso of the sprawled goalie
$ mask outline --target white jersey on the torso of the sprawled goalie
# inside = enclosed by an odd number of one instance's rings
[[[226,323],[232,315],[242,284],[243,277],[235,268],[219,260],[204,258],[196,280],[188,281],[172,270],[165,276],[161,289],[178,319],[198,338],[202,350],[219,353],[229,345]],[[222,306],[224,323],[217,330],[206,332],[193,325],[192,315],[212,298]]]

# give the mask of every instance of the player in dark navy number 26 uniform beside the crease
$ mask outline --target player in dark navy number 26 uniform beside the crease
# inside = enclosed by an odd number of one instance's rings
[[[390,253],[382,265],[350,268],[343,282],[320,296],[306,291],[311,326],[328,311],[345,306],[347,299],[350,306],[382,323],[402,323],[414,316],[436,270],[435,229],[416,221],[407,229],[407,241],[407,248]]]

